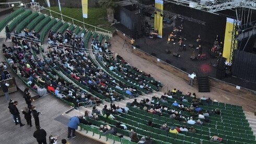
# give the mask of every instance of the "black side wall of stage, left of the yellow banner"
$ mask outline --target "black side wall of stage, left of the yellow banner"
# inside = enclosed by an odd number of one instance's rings
[[[141,35],[141,16],[134,13],[135,5],[115,8],[115,19],[133,32],[133,38]]]

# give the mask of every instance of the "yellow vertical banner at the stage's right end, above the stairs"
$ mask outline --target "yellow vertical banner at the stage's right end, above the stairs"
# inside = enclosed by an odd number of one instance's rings
[[[227,58],[227,62],[229,62],[229,57],[230,57],[233,26],[234,26],[234,19],[227,18],[225,39],[224,39],[224,46],[223,46],[223,57]]]

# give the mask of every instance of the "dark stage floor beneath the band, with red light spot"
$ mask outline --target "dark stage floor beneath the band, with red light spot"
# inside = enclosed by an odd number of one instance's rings
[[[165,33],[168,31],[171,32],[171,28],[166,28],[164,31]],[[186,45],[187,50],[182,52],[178,52],[179,44],[177,41],[167,43],[167,39],[167,34],[163,35],[162,39],[157,38],[155,40],[144,36],[136,39],[135,46],[148,54],[155,53],[157,58],[168,62],[170,65],[182,69],[189,74],[195,72],[197,76],[210,76],[216,78],[216,67],[213,67],[212,65],[217,64],[218,58],[212,58],[208,52],[213,44],[202,42],[202,54],[206,54],[207,59],[192,61],[190,56],[192,56],[193,50],[195,50],[195,55],[198,55],[198,50],[191,49],[189,44],[193,44],[196,47],[196,38],[186,38],[187,41],[183,41],[183,44]],[[171,53],[167,54],[166,50],[169,50]],[[180,57],[173,56],[173,53],[178,53]],[[247,80],[242,80],[236,77],[227,77],[222,80],[256,91],[256,83]]]

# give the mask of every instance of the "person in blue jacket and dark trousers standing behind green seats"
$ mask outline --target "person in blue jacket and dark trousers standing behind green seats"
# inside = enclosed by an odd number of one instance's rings
[[[79,118],[77,116],[69,118],[69,122],[67,124],[68,128],[68,133],[67,133],[67,139],[69,139],[71,136],[71,131],[72,131],[72,136],[73,138],[76,137],[76,129],[78,128],[78,125],[80,124]]]

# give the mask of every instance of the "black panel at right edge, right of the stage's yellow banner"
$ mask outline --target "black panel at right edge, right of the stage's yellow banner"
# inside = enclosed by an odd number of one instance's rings
[[[232,73],[236,77],[256,82],[256,54],[234,51]]]

